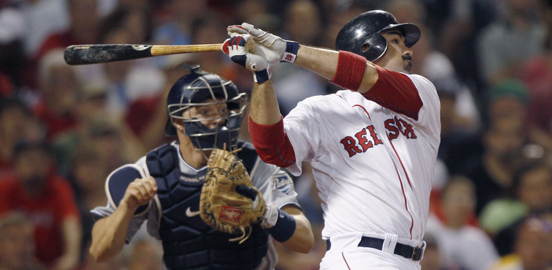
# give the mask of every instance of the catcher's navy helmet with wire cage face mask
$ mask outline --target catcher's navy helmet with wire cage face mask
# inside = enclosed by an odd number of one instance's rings
[[[247,107],[247,94],[239,93],[232,81],[217,74],[205,72],[199,65],[190,67],[190,74],[182,76],[172,85],[167,97],[169,119],[165,126],[166,136],[177,136],[175,123],[184,125],[195,149],[215,148],[233,150],[237,146],[239,128]],[[208,101],[208,102],[207,102]],[[206,118],[184,117],[190,107],[221,105],[226,103],[226,112]],[[216,121],[218,127],[206,127],[201,121]]]

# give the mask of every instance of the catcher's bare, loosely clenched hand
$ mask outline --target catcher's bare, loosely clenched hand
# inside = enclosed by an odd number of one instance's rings
[[[157,194],[157,183],[153,177],[136,178],[126,188],[121,203],[126,203],[131,209],[138,208],[152,200],[155,194]]]

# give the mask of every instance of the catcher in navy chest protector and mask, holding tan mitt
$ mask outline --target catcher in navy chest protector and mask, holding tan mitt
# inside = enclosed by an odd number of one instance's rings
[[[161,240],[164,269],[274,269],[272,239],[308,253],[313,231],[292,179],[237,140],[246,94],[197,65],[190,70],[167,98],[165,133],[177,141],[107,177],[108,205],[91,211],[90,253],[109,260],[144,222]]]

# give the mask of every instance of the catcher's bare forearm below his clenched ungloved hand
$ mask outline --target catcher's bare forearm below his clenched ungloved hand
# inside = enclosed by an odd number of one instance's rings
[[[119,207],[106,218],[97,220],[92,228],[92,245],[90,254],[97,262],[105,262],[117,256],[126,241],[128,225],[136,209],[129,209],[121,203]]]

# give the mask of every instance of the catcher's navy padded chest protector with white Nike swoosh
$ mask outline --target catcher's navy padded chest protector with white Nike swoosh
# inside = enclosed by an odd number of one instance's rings
[[[152,150],[146,156],[146,164],[157,182],[162,209],[159,234],[168,269],[244,270],[255,269],[261,263],[268,249],[268,232],[255,225],[251,236],[240,245],[228,241],[235,236],[219,232],[201,220],[199,197],[203,183],[180,180],[183,174],[175,147],[164,145]]]

